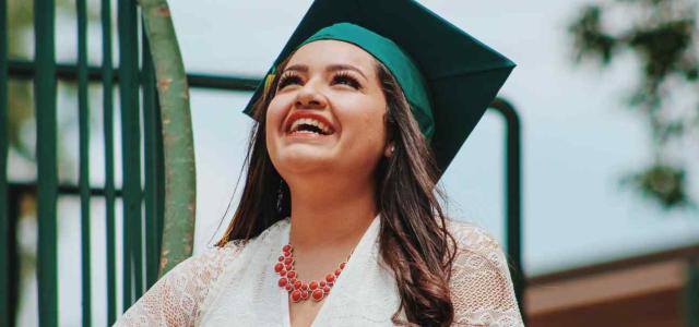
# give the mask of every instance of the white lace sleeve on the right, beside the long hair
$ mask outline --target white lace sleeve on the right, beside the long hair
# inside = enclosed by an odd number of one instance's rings
[[[524,326],[514,298],[508,263],[487,232],[451,222],[457,256],[450,280],[458,326]]]

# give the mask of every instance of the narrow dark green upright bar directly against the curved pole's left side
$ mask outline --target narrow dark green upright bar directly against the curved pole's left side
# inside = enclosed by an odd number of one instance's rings
[[[158,206],[158,134],[161,128],[157,122],[157,104],[155,93],[155,73],[153,72],[153,62],[151,59],[151,49],[149,47],[145,29],[142,31],[142,59],[141,68],[141,87],[143,89],[143,138],[145,153],[145,276],[146,288],[150,288],[157,280],[157,268],[159,262],[158,252],[158,216],[161,215]]]

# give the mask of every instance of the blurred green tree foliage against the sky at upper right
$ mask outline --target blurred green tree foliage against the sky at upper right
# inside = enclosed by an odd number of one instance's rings
[[[651,162],[623,182],[664,208],[686,207],[686,161],[699,153],[697,1],[597,1],[569,26],[576,61],[606,69],[629,53],[638,59],[639,84],[628,106],[648,123],[652,140]]]

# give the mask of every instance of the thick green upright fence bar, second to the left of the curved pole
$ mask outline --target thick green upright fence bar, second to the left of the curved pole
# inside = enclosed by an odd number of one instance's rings
[[[123,308],[143,292],[141,262],[141,133],[139,45],[134,0],[119,0],[119,93],[123,165]],[[133,282],[133,287],[131,284]]]

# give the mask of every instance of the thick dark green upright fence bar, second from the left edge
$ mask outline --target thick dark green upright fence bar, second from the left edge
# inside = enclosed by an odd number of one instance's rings
[[[54,0],[34,0],[36,162],[38,178],[37,280],[39,325],[58,325],[56,196],[56,52]]]

